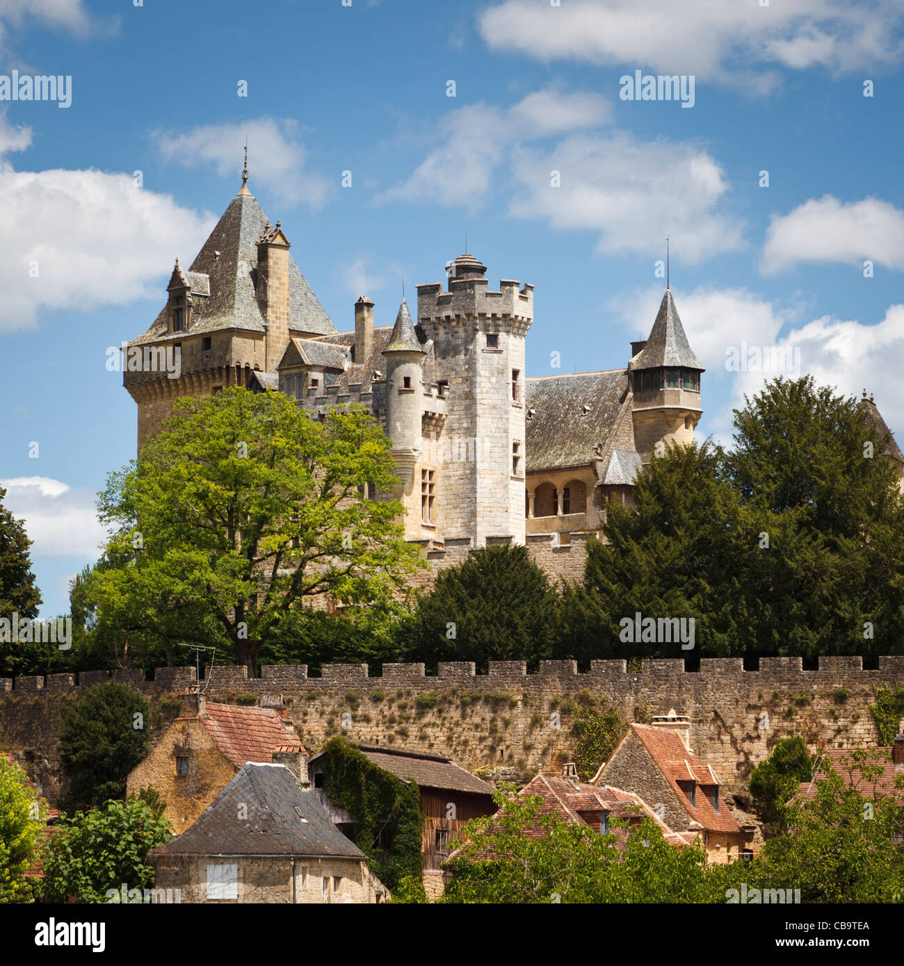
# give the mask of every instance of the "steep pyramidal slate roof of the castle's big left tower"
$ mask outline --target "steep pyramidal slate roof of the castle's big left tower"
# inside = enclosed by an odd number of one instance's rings
[[[226,328],[248,331],[266,330],[254,295],[252,272],[257,270],[257,240],[269,220],[257,199],[240,191],[229,203],[217,226],[204,242],[186,272],[191,291],[201,291],[200,276],[207,275],[210,298],[195,298],[191,328],[167,335],[166,306],[151,327],[130,345],[181,339],[187,335],[214,332]],[[219,254],[218,254],[219,252]],[[195,290],[192,276],[196,277]],[[311,291],[305,276],[289,254],[289,328],[293,331],[328,334],[335,332],[323,306]]]

